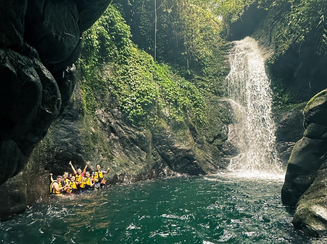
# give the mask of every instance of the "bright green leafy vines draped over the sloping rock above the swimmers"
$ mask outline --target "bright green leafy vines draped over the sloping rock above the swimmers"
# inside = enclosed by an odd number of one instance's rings
[[[190,113],[204,122],[203,94],[168,64],[155,65],[152,56],[133,44],[129,26],[116,7],[109,6],[84,35],[78,63],[84,110],[94,113],[105,106],[101,100],[113,96],[128,120],[136,124],[153,123],[158,115],[182,122]]]

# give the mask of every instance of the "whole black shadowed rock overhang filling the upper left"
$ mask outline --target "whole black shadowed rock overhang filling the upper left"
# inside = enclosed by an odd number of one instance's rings
[[[81,33],[110,0],[0,1],[0,185],[25,166],[75,86]],[[92,7],[90,7],[92,5]]]

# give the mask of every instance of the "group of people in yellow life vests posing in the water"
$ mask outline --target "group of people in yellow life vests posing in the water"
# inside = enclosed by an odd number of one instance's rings
[[[72,167],[74,173],[74,175],[70,174],[69,178],[68,172],[64,172],[63,175],[58,175],[56,180],[54,180],[52,174],[50,174],[50,194],[78,193],[90,191],[94,188],[102,188],[106,184],[104,175],[109,173],[109,167],[107,171],[103,171],[101,170],[101,165],[96,164],[96,171],[90,174],[89,171],[86,171],[90,163],[90,161],[86,162],[82,172],[80,168],[76,171],[72,161],[69,161],[69,165]]]

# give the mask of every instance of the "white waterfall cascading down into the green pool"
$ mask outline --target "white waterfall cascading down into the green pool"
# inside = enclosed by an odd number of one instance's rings
[[[226,82],[228,96],[233,100],[240,154],[231,160],[230,168],[281,173],[271,110],[272,92],[264,59],[254,39],[246,37],[234,44]]]

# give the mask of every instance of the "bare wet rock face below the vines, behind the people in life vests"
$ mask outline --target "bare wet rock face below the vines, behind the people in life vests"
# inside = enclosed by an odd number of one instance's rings
[[[220,113],[229,113],[226,101],[212,101],[211,128],[204,132],[191,119],[184,124],[161,119],[155,127],[137,127],[124,118],[110,94],[103,97],[102,108],[93,115],[85,113],[77,82],[65,110],[35,147],[26,167],[1,186],[0,193],[7,197],[0,200],[0,219],[24,211],[37,199],[48,199],[49,173],[72,172],[69,161],[77,169],[91,160],[87,169],[91,172],[96,163],[110,167],[107,185],[204,175],[226,168],[228,128],[216,116],[216,107]]]

